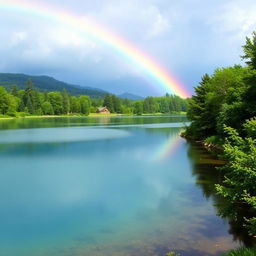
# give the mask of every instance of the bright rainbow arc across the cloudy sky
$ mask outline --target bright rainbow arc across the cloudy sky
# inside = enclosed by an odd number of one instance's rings
[[[129,41],[91,19],[61,10],[53,5],[26,0],[0,0],[1,9],[44,17],[79,30],[110,47],[131,66],[142,69],[148,78],[153,79],[154,84],[162,87],[166,92],[179,95],[182,98],[191,96],[185,86],[161,64]]]

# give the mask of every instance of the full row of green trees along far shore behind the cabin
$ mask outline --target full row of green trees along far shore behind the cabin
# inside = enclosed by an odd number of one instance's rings
[[[13,85],[7,91],[5,87],[0,86],[0,115],[4,116],[89,115],[96,113],[102,106],[117,114],[168,114],[186,112],[187,100],[168,94],[164,97],[147,97],[133,101],[111,94],[103,98],[72,96],[65,89],[61,92],[40,92],[31,80],[27,81],[24,90],[18,90],[17,86]]]

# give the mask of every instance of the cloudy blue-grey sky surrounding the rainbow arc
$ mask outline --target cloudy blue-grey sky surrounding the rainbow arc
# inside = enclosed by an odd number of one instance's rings
[[[256,30],[255,0],[43,3],[87,17],[128,40],[164,66],[189,93],[193,93],[193,87],[205,73],[212,74],[217,67],[243,64],[241,46],[245,37]],[[166,93],[152,77],[99,40],[47,17],[1,9],[1,1],[0,56],[2,73],[49,75],[116,94]]]

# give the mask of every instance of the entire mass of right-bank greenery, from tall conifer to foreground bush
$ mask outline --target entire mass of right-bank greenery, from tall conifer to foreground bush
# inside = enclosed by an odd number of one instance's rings
[[[185,135],[219,144],[227,164],[225,178],[216,185],[228,199],[221,216],[236,221],[241,209],[244,225],[256,235],[256,33],[243,46],[245,66],[218,68],[205,74],[189,100],[187,116],[191,125]]]

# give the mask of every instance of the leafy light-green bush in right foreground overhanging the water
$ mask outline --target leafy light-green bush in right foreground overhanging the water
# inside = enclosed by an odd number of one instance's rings
[[[237,218],[237,208],[241,205],[250,207],[251,217],[246,223],[253,235],[256,234],[256,120],[252,119],[244,125],[246,137],[242,138],[238,132],[225,127],[227,133],[224,144],[224,159],[228,163],[221,169],[225,172],[222,185],[216,185],[218,194],[227,198],[230,204],[220,212],[223,216]]]

